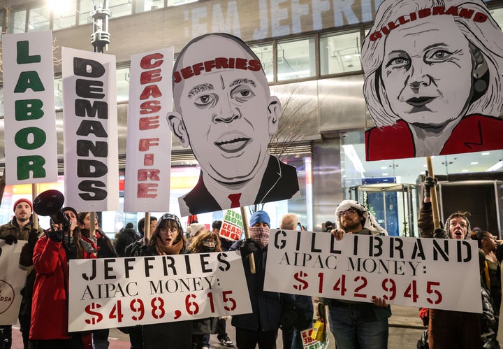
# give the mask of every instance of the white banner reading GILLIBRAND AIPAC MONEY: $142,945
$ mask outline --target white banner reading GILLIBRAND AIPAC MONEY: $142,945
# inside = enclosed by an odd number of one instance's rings
[[[456,276],[453,278],[452,276]],[[264,290],[481,313],[475,241],[271,229]],[[470,301],[467,301],[470,299]]]

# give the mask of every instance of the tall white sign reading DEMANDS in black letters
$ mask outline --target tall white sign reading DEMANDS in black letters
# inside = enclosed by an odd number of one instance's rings
[[[62,48],[66,201],[119,210],[115,56]]]

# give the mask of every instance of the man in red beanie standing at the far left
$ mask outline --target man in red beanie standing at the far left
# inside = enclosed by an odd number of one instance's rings
[[[20,329],[23,338],[24,348],[28,348],[29,327],[31,318],[31,292],[35,280],[35,271],[30,267],[33,262],[33,251],[38,236],[43,234],[43,229],[34,228],[32,222],[33,205],[28,199],[19,199],[14,203],[14,217],[5,225],[0,226],[0,238],[6,243],[12,245],[17,240],[27,240],[28,243],[23,246],[20,255],[20,265],[28,268],[27,285],[22,290],[23,299],[19,314]],[[12,326],[0,326],[6,336],[6,349],[12,345]]]

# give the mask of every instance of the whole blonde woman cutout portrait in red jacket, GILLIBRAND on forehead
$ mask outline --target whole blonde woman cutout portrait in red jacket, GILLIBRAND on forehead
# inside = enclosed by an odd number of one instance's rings
[[[503,148],[503,34],[482,1],[383,1],[362,64],[367,160]]]

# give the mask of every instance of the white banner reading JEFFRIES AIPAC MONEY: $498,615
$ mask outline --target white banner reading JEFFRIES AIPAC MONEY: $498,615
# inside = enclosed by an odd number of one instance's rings
[[[72,259],[68,331],[251,313],[237,252]]]

